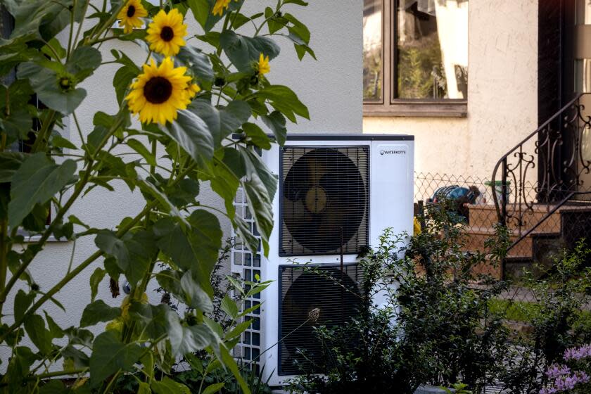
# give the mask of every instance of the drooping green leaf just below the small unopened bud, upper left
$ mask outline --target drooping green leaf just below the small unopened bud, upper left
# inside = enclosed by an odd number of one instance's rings
[[[57,66],[61,65],[58,63]],[[57,72],[36,63],[22,63],[18,67],[17,77],[20,80],[28,78],[39,100],[52,110],[65,115],[74,112],[87,96],[87,92],[82,88],[62,89]]]

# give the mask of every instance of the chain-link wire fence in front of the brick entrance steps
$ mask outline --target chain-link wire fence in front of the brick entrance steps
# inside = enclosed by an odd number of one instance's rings
[[[538,201],[542,193],[535,182],[524,182],[518,188],[508,184],[507,195],[502,196],[500,184],[492,184],[489,179],[415,173],[415,215],[420,215],[426,205],[437,204],[438,199],[445,196],[453,201],[452,207],[459,217],[458,225],[464,227],[463,248],[466,253],[482,252],[485,242],[495,236],[495,226],[500,222],[493,193],[496,193],[497,201],[503,201],[503,198],[508,201],[506,225],[512,246],[502,265],[485,262],[476,270],[498,281],[509,282],[507,290],[491,300],[490,309],[504,313],[507,326],[517,338],[533,329],[530,323],[539,301],[535,291],[524,284],[524,269],[532,272],[534,277],[543,277],[545,270],[551,269],[565,251],[574,250],[581,239],[591,240],[591,201],[587,201],[591,194],[580,190],[573,195],[572,201],[557,208]],[[554,208],[557,209],[552,212]],[[591,243],[587,242],[587,247],[591,247]],[[591,261],[587,261],[587,266],[591,266]],[[583,304],[583,310],[591,310],[591,305]],[[519,341],[507,345],[514,355],[507,360],[511,363],[508,370],[531,368],[530,379],[539,382],[543,370],[539,366],[543,362],[538,360],[539,365],[535,365],[528,353],[530,350],[520,347]],[[518,391],[515,388],[508,390],[499,383],[481,388],[479,393],[533,393],[535,383],[532,382],[529,385],[523,383],[523,388]]]

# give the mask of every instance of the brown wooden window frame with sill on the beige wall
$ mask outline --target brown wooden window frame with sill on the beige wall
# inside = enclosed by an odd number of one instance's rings
[[[466,117],[464,98],[396,98],[398,80],[398,0],[382,1],[382,87],[381,99],[363,100],[363,116]],[[467,49],[466,49],[467,50]]]

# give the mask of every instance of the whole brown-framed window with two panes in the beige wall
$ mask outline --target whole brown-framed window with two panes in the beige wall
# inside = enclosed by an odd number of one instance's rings
[[[364,0],[364,115],[466,115],[468,4]]]

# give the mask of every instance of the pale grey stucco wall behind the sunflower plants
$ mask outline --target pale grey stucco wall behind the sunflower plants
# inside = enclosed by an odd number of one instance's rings
[[[269,1],[247,0],[247,10],[262,11]],[[274,4],[274,2],[272,2]],[[310,6],[301,8],[288,6],[289,12],[307,24],[312,33],[311,46],[318,61],[305,58],[298,61],[293,45],[288,40],[279,40],[282,56],[271,63],[272,71],[268,79],[276,84],[292,87],[300,100],[310,108],[311,120],[301,120],[298,125],[289,125],[289,131],[298,132],[360,132],[362,128],[362,73],[361,73],[361,13],[362,3],[358,0],[311,1]],[[190,32],[197,32],[196,24],[191,23]],[[191,44],[199,45],[197,40]],[[107,42],[101,47],[103,61],[111,58],[109,50],[113,46]],[[112,44],[111,44],[112,45]],[[117,49],[138,63],[144,61],[146,53],[131,43],[117,43]],[[84,82],[88,97],[76,111],[84,133],[92,129],[92,116],[96,110],[115,113],[115,92],[112,87],[116,65],[106,65]],[[80,146],[80,138],[74,129],[70,132],[72,142]],[[115,186],[115,184],[113,184]],[[93,227],[113,229],[123,217],[133,216],[144,204],[139,193],[130,193],[127,186],[120,182],[116,192],[96,188],[71,208],[71,214],[80,217]],[[202,186],[201,201],[223,209],[221,201]],[[224,231],[229,235],[229,222],[222,220]],[[42,291],[51,288],[65,274],[70,262],[73,243],[51,242],[32,263],[30,269]],[[76,266],[96,250],[94,237],[84,237],[77,241],[73,253]],[[90,302],[89,276],[101,262],[88,267],[78,279],[63,288],[56,295],[67,312],[61,311],[51,303],[47,310],[61,326],[77,325],[82,310]],[[121,282],[123,279],[121,280]],[[152,295],[153,292],[150,293]],[[113,300],[108,291],[108,280],[100,286],[98,298],[107,303],[118,305],[122,298]],[[13,310],[13,300],[8,300],[6,313]],[[40,312],[40,311],[39,311]],[[4,350],[0,357],[5,360]],[[6,364],[4,364],[6,365]]]

